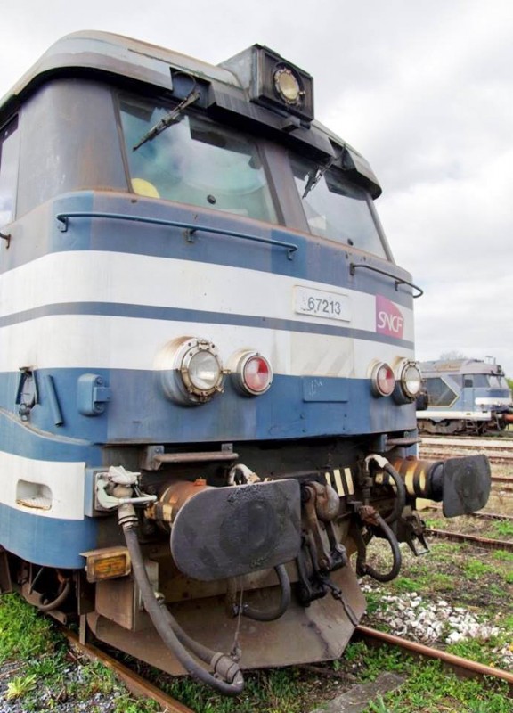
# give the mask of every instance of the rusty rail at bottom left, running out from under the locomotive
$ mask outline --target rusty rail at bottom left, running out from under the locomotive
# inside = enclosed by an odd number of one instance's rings
[[[175,698],[168,696],[167,693],[161,691],[157,688],[157,686],[151,684],[149,681],[146,681],[142,678],[142,676],[134,673],[134,671],[131,671],[130,668],[127,668],[122,663],[119,663],[118,660],[113,659],[109,656],[109,654],[96,648],[96,646],[90,643],[80,643],[78,636],[67,629],[63,629],[62,632],[68,639],[69,643],[72,643],[79,652],[85,654],[85,656],[91,660],[102,661],[104,666],[110,668],[110,670],[112,670],[116,676],[118,676],[118,678],[126,684],[126,688],[131,693],[134,693],[135,696],[140,698],[151,698],[153,701],[156,701],[163,710],[166,710],[167,713],[195,713],[195,711],[187,706],[184,706],[180,701],[176,701]]]

